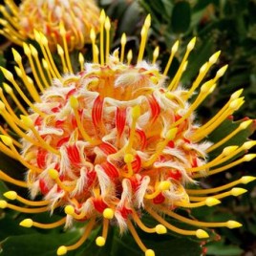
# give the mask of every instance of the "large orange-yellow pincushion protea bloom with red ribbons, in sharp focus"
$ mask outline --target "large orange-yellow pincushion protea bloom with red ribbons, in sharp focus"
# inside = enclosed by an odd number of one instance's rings
[[[35,32],[43,53],[42,61],[32,45],[24,44],[35,84],[25,74],[20,54],[13,50],[16,73],[30,96],[26,96],[11,72],[1,68],[9,81],[9,84],[4,83],[5,92],[12,97],[21,115],[18,117],[13,112],[1,90],[0,113],[7,126],[1,127],[0,149],[19,160],[28,168],[28,173],[26,181],[17,181],[1,171],[0,179],[27,187],[32,200],[9,191],[4,194],[7,199],[25,203],[26,207],[5,200],[0,201],[0,207],[24,213],[53,212],[58,207],[64,208],[65,217],[53,224],[25,219],[20,223],[25,227],[54,228],[64,224],[69,227],[76,221],[83,222],[81,238],[74,245],[59,246],[57,255],[64,255],[82,245],[98,225],[102,226],[102,234],[96,238],[96,245],[105,245],[108,230],[115,225],[120,233],[128,229],[146,256],[155,255],[155,252],[141,242],[135,224],[147,233],[163,234],[168,229],[199,239],[208,237],[201,229],[203,227],[241,226],[235,221],[195,221],[176,211],[176,208],[221,203],[220,199],[226,196],[245,193],[245,189],[235,185],[255,180],[245,176],[215,188],[193,189],[190,186],[200,186],[196,179],[222,172],[256,156],[238,157],[255,145],[254,141],[224,147],[226,141],[252,123],[250,119],[242,121],[238,128],[217,143],[207,141],[207,136],[243,105],[242,90],[235,92],[206,123],[199,125],[195,122],[194,112],[213,92],[217,80],[226,70],[224,66],[214,78],[203,82],[204,75],[217,61],[220,52],[209,58],[191,88],[185,90],[180,85],[180,78],[196,38],[187,45],[177,74],[169,80],[166,74],[179,42],[174,44],[161,73],[156,64],[159,48],[156,48],[151,63],[143,61],[150,16],[142,27],[135,65],[131,64],[132,50],[128,52],[127,60],[124,59],[125,34],[121,38],[120,54],[118,51],[109,54],[110,27],[110,20],[102,11],[99,50],[92,31],[94,61],[84,63],[82,54],[79,54],[78,73],[72,69],[67,49],[58,45],[63,66],[63,70],[59,70],[46,36]],[[60,75],[62,71],[65,75]],[[29,110],[22,106],[13,89],[28,104]],[[195,94],[197,96],[189,103],[189,98]],[[222,153],[207,160],[208,154],[216,148],[223,148]],[[238,160],[234,160],[235,157]],[[37,195],[42,196],[41,201],[34,200]],[[141,220],[143,215],[153,217],[158,224],[146,226]],[[170,224],[162,215],[201,228],[185,230]]]

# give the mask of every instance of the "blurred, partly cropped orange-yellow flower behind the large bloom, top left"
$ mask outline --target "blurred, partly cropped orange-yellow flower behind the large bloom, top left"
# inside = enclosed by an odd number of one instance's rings
[[[19,7],[12,1],[1,6],[5,19],[0,19],[0,31],[12,42],[21,45],[34,39],[34,30],[43,32],[51,49],[67,44],[70,51],[90,42],[90,31],[99,30],[99,10],[94,0],[24,0]],[[66,31],[63,41],[63,28]]]

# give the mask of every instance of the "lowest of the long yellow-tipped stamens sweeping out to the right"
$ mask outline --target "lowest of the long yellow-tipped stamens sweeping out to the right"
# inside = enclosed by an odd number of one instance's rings
[[[185,229],[181,229],[179,227],[176,227],[176,226],[174,226],[172,224],[167,223],[153,209],[151,209],[149,207],[145,207],[145,209],[154,219],[156,219],[158,222],[160,222],[160,224],[163,224],[169,230],[172,230],[172,231],[174,231],[174,232],[176,232],[178,234],[181,234],[181,235],[184,235],[184,236],[197,236],[198,238],[201,238],[201,239],[209,237],[208,234],[204,230],[202,230],[202,229],[198,229],[198,230],[185,230]]]

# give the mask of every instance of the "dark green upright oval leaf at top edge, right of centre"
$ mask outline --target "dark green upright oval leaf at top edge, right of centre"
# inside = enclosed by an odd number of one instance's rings
[[[171,25],[173,32],[183,33],[189,29],[191,20],[190,5],[186,1],[178,2],[173,9]]]

